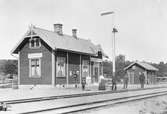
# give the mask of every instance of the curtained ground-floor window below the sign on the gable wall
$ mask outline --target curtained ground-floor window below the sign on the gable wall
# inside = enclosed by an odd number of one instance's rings
[[[30,77],[41,77],[41,60],[30,59]]]

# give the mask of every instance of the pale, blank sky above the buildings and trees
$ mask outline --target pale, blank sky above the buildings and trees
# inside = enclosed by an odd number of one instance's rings
[[[100,16],[114,11],[113,15]],[[167,62],[167,0],[0,0],[0,59],[14,59],[11,50],[30,24],[101,44],[112,59],[112,27],[116,54],[127,60]]]

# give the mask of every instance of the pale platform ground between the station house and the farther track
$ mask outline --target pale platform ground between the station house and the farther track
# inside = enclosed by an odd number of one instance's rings
[[[118,84],[117,90],[123,90],[122,84]],[[167,84],[157,84],[157,85],[145,85],[145,88],[152,87],[167,87]],[[128,90],[140,89],[140,85],[129,85]],[[105,91],[111,91],[107,88]],[[82,93],[93,93],[99,92],[98,85],[86,86],[86,90],[83,91],[81,87],[75,88],[74,85],[68,87],[52,87],[46,85],[37,85],[33,87],[29,86],[19,86],[19,89],[12,88],[1,88],[0,89],[0,101],[7,100],[17,100],[17,99],[29,99],[38,97],[49,97],[49,96],[62,96],[71,94],[82,94]]]

